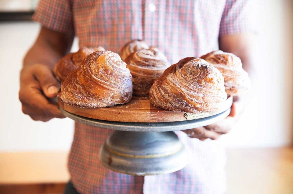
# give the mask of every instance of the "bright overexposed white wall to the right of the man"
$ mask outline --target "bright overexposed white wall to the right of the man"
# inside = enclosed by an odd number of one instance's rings
[[[229,147],[284,146],[293,138],[293,2],[256,2],[256,95],[237,127],[223,137]]]

